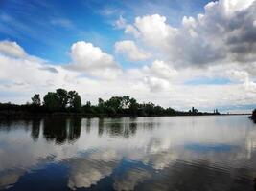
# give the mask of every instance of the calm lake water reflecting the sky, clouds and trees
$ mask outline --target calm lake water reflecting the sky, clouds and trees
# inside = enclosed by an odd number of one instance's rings
[[[255,190],[246,116],[0,122],[0,190]]]

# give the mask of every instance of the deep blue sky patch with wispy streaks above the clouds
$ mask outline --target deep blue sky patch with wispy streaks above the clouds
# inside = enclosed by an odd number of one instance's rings
[[[123,32],[113,24],[120,16],[132,22],[136,16],[159,13],[178,26],[184,15],[203,11],[205,0],[4,0],[0,7],[0,39],[16,41],[27,53],[52,62],[70,61],[70,46],[85,40],[113,53]]]

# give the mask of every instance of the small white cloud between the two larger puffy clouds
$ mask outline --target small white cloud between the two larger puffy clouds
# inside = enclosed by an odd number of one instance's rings
[[[131,40],[124,40],[115,43],[116,53],[124,53],[131,61],[140,61],[150,58],[150,53],[139,49]]]

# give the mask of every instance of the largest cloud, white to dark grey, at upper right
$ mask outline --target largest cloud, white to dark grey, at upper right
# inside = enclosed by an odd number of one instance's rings
[[[178,28],[158,14],[136,17],[132,26],[146,46],[177,66],[254,62],[255,9],[253,0],[220,0],[208,3],[196,18],[184,17]]]

